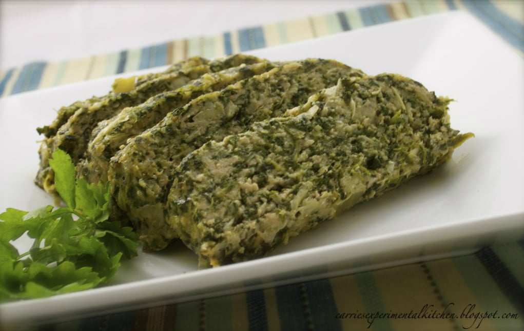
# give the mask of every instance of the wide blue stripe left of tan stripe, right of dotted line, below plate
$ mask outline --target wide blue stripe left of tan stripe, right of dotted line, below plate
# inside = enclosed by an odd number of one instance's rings
[[[337,308],[329,279],[305,283],[305,293],[309,300],[314,329],[342,330],[341,320],[334,318]]]

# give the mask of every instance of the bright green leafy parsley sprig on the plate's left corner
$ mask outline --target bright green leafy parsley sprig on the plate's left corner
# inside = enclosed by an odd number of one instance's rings
[[[122,256],[137,256],[133,229],[109,219],[109,183],[75,180],[62,150],[49,164],[66,207],[7,208],[0,214],[0,302],[93,288],[113,277]],[[20,253],[12,241],[24,234],[34,241]]]

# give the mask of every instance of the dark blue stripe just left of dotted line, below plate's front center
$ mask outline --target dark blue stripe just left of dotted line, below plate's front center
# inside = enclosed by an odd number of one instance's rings
[[[275,289],[281,330],[307,330],[305,313],[300,301],[300,284],[278,286]]]

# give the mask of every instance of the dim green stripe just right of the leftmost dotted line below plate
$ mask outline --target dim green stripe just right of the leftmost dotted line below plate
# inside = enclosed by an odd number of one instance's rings
[[[231,330],[234,321],[231,307],[231,295],[206,299],[205,329],[208,331]]]

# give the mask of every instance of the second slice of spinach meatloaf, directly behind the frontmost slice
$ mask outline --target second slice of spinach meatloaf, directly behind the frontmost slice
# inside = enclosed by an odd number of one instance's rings
[[[117,205],[133,221],[144,247],[160,250],[176,237],[166,225],[163,202],[171,171],[187,153],[209,140],[241,133],[258,120],[282,116],[341,78],[362,75],[333,60],[287,63],[202,95],[130,139],[112,158],[108,179]]]

